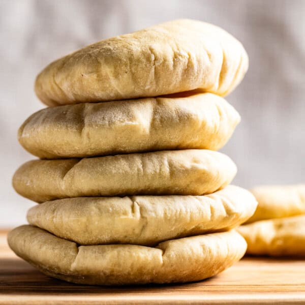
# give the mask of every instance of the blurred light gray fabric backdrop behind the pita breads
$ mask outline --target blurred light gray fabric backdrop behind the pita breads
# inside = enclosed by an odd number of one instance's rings
[[[301,0],[0,0],[0,227],[24,223],[33,205],[11,178],[33,158],[16,134],[44,107],[33,91],[37,73],[89,43],[176,18],[217,24],[248,51],[248,74],[227,97],[242,118],[222,149],[238,166],[234,184],[304,182],[304,12]]]

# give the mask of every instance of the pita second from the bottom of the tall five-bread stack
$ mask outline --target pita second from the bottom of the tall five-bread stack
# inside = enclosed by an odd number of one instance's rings
[[[30,224],[80,245],[158,242],[232,229],[257,206],[247,190],[228,186],[205,196],[78,197],[29,209]]]

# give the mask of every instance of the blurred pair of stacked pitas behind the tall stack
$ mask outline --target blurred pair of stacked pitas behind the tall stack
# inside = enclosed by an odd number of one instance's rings
[[[251,255],[305,257],[305,185],[252,190],[258,206],[238,231]]]

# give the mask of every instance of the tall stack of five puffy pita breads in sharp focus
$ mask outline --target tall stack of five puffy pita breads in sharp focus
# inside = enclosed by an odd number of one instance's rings
[[[177,20],[89,45],[37,77],[49,108],[19,129],[39,160],[13,185],[39,205],[9,234],[13,251],[75,283],[198,281],[246,251],[231,230],[254,196],[229,186],[216,150],[240,117],[221,96],[248,69],[242,45],[214,25]]]

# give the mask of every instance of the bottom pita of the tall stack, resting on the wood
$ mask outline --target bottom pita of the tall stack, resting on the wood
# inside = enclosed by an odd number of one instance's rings
[[[78,246],[42,229],[21,226],[9,233],[8,242],[46,275],[89,285],[199,281],[230,267],[247,248],[234,231],[173,239],[149,248]]]

